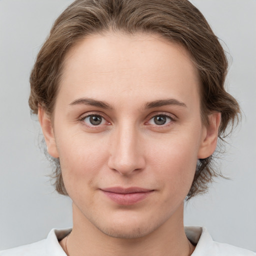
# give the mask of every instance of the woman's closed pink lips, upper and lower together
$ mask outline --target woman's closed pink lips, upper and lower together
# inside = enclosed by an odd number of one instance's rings
[[[112,201],[121,205],[135,204],[154,191],[142,187],[108,187],[100,190]]]

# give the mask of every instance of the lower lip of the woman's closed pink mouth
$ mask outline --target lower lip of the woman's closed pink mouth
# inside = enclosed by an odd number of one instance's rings
[[[118,204],[122,205],[131,205],[142,201],[145,199],[153,190],[147,192],[136,192],[136,193],[127,193],[127,194],[119,194],[108,191],[101,190],[107,197]]]

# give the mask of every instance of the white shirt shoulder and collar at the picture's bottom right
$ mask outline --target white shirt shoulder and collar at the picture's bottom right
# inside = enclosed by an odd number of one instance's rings
[[[185,227],[187,238],[196,243],[191,256],[256,256],[256,253],[230,244],[215,242],[205,227]]]

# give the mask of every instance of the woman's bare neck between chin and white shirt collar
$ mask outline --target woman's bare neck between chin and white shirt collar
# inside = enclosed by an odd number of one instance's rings
[[[67,251],[65,249],[67,245]],[[183,226],[183,204],[153,232],[138,238],[116,238],[97,229],[73,204],[73,229],[60,242],[69,256],[172,256],[190,255],[194,246]]]

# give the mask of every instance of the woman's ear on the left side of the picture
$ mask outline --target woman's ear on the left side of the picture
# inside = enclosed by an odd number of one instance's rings
[[[39,123],[42,128],[44,140],[46,142],[47,151],[52,157],[57,158],[58,151],[56,147],[55,136],[54,136],[51,120],[49,116],[45,113],[45,110],[43,109],[43,107],[41,106],[38,107],[37,115],[38,115]]]

